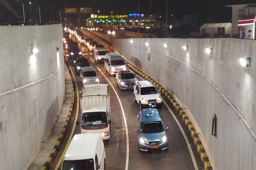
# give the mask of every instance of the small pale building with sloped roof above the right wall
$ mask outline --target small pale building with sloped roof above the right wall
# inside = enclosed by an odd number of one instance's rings
[[[231,36],[232,24],[226,23],[205,23],[200,27],[200,34],[207,38],[220,38]]]

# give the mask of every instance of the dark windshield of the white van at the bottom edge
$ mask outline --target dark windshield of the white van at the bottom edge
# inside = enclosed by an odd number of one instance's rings
[[[94,170],[94,160],[72,160],[63,161],[63,170]]]

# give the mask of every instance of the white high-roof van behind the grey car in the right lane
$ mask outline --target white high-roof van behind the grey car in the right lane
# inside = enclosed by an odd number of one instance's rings
[[[107,53],[104,67],[109,75],[117,74],[120,70],[126,70],[125,61],[118,53]]]

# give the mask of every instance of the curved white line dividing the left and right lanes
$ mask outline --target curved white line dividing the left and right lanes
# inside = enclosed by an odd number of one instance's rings
[[[122,114],[123,114],[123,119],[124,119],[124,125],[125,125],[125,132],[126,132],[126,161],[125,161],[125,170],[128,170],[128,165],[129,165],[129,133],[128,133],[128,127],[127,127],[127,122],[126,122],[126,117],[124,114],[124,110],[123,110],[123,105],[121,103],[121,100],[119,98],[119,95],[117,93],[117,91],[115,91],[112,83],[109,81],[109,79],[103,74],[103,72],[101,71],[101,69],[97,66],[97,68],[99,69],[99,71],[101,72],[101,74],[106,78],[106,80],[109,82],[110,86],[112,87],[112,89],[115,92],[115,95],[117,95],[119,104],[121,106],[121,110],[122,110]]]

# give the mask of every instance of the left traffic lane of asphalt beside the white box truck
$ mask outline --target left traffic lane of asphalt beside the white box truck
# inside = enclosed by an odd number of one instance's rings
[[[101,84],[108,84],[108,81],[104,78],[104,76],[97,69],[97,65],[95,64],[94,55],[88,51],[87,48],[84,48],[83,55],[91,62],[91,66],[95,68],[99,82]],[[80,81],[80,77],[76,76],[76,81],[79,89],[82,89],[82,82]],[[125,160],[126,160],[126,135],[125,135],[125,125],[121,113],[120,105],[117,104],[118,100],[115,96],[115,93],[111,87],[110,89],[110,108],[111,108],[111,131],[110,131],[110,139],[109,141],[104,141],[104,147],[106,151],[106,161],[107,161],[107,169],[124,169],[125,168]],[[80,130],[80,125],[79,125]],[[80,133],[78,131],[77,133]]]

